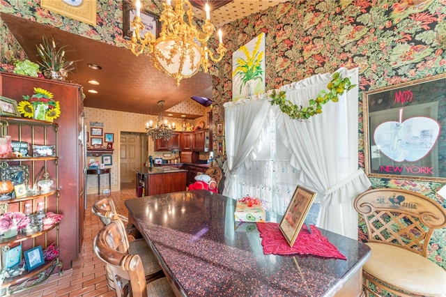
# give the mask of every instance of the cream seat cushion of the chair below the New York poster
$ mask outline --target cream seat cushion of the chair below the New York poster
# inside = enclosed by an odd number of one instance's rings
[[[415,252],[386,243],[367,243],[364,271],[395,287],[426,296],[446,295],[446,271]]]

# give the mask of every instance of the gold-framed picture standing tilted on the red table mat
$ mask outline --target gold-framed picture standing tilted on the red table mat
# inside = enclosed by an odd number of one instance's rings
[[[282,231],[291,247],[294,245],[295,239],[298,238],[300,228],[302,228],[305,216],[307,216],[315,197],[315,192],[300,185],[294,191],[290,204],[279,224],[280,231]]]

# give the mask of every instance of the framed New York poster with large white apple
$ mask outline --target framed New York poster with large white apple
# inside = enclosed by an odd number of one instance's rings
[[[446,179],[446,75],[364,93],[366,173]]]

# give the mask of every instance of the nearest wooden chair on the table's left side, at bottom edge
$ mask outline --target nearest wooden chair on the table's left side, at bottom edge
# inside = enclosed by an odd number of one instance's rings
[[[95,254],[107,264],[112,274],[116,296],[175,296],[167,277],[146,283],[143,261],[139,254],[128,254],[121,220],[112,220],[95,236]]]

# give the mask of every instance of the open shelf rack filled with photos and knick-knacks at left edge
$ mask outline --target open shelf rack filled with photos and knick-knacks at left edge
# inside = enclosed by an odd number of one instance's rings
[[[59,250],[59,125],[2,117],[0,127],[3,139],[8,135],[15,144],[22,144],[19,153],[0,158],[1,181],[14,186],[0,194],[2,220],[15,217],[15,224],[2,231],[0,238],[1,277],[6,276],[0,295],[8,296],[41,284],[56,269],[61,273],[59,252],[43,253],[49,257],[38,257],[36,264],[30,257],[25,268],[16,264],[25,254],[39,255],[40,249]],[[42,154],[37,148],[47,151]]]

